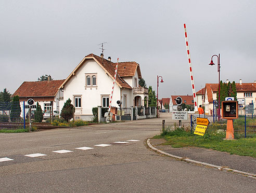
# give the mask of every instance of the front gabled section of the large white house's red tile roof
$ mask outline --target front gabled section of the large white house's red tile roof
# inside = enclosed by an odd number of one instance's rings
[[[69,75],[69,77],[65,80],[65,82],[63,82],[61,87],[63,87],[69,81],[69,79],[72,77],[72,75],[74,75],[75,72],[83,65],[84,61],[88,60],[88,59],[94,59],[114,79],[114,73],[115,73],[116,65],[113,62],[111,62],[107,59],[103,59],[99,56],[96,56],[93,53],[90,53],[86,57],[84,57],[84,59],[78,64],[78,66],[75,67],[73,72]],[[125,87],[125,88],[132,89],[132,87],[129,84],[127,84],[127,82],[118,73],[117,73],[116,82],[121,88]]]

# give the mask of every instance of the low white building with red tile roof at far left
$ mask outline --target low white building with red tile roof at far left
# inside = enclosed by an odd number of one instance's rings
[[[29,111],[28,99],[35,101],[34,105],[31,106],[32,110],[36,109],[36,103],[39,102],[42,111],[49,111],[52,105],[54,111],[61,111],[60,101],[63,100],[63,91],[59,87],[64,81],[52,80],[50,77],[44,81],[24,81],[14,94],[12,94],[12,96],[19,96],[21,117],[23,117],[24,107],[25,114]],[[25,101],[25,106],[23,105],[23,101]]]

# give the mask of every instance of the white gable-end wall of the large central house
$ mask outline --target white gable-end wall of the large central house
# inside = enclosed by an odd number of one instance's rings
[[[85,87],[85,73],[97,73],[97,87]],[[103,70],[103,68],[101,68],[93,59],[86,60],[79,70],[75,72],[75,76],[72,76],[64,86],[63,102],[66,102],[70,98],[72,104],[74,104],[73,96],[81,95],[82,108],[76,108],[75,114],[92,116],[92,108],[102,105],[101,94],[110,96],[112,85],[113,79]],[[123,93],[126,93],[126,91]],[[120,97],[120,87],[115,84],[111,106],[118,107],[116,102],[117,100],[120,100]],[[60,106],[60,109],[62,109],[62,106]]]

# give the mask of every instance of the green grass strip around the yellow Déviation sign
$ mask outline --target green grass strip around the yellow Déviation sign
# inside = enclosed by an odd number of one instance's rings
[[[164,138],[167,142],[163,145],[171,145],[174,148],[195,146],[226,151],[240,156],[256,157],[256,137],[224,140],[225,133],[211,134],[210,138],[206,133],[204,137],[203,139],[202,136],[190,134],[190,131],[175,129],[162,132],[161,135],[157,135],[154,138]]]

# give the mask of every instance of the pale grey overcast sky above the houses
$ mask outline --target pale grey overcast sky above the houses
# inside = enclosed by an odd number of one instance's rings
[[[0,0],[0,91],[50,74],[66,79],[89,53],[136,61],[159,98],[192,94],[186,23],[196,91],[221,79],[256,80],[256,1]],[[213,58],[217,63],[217,58]],[[111,88],[109,90],[111,92]]]

